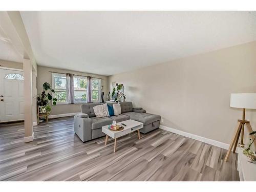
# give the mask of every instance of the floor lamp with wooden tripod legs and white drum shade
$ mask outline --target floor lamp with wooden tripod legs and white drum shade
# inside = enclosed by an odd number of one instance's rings
[[[245,120],[245,109],[256,109],[256,93],[232,93],[230,94],[230,106],[232,108],[243,109],[243,118],[238,119],[237,130],[233,136],[232,142],[229,145],[225,161],[228,160],[230,152],[233,148],[233,153],[236,153],[239,137],[241,135],[241,142],[239,145],[244,147],[244,125],[246,124],[249,133],[252,132],[250,121]]]

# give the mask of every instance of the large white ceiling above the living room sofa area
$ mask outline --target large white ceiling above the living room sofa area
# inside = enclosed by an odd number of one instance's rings
[[[38,65],[112,75],[256,40],[255,11],[21,11]]]

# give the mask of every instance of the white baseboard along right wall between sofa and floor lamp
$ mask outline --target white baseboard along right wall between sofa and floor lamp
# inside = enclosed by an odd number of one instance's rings
[[[204,143],[208,143],[208,144],[211,144],[211,145],[214,145],[214,146],[218,146],[218,147],[224,148],[225,150],[228,150],[228,147],[229,147],[229,144],[226,144],[226,143],[223,143],[223,142],[220,142],[220,141],[216,141],[216,140],[212,140],[212,139],[208,139],[208,138],[205,138],[205,137],[201,137],[201,136],[198,136],[198,135],[194,135],[194,134],[191,134],[191,133],[183,132],[183,131],[180,131],[180,130],[176,130],[174,128],[164,126],[164,125],[161,125],[161,124],[160,124],[159,128],[162,129],[162,130],[168,131],[168,132],[176,133],[178,135],[182,135],[182,136],[191,138],[191,139],[202,141]]]

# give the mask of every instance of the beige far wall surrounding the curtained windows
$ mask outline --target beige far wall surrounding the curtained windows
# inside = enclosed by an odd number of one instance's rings
[[[75,75],[102,78],[101,85],[103,86],[102,91],[104,92],[104,97],[106,97],[106,93],[108,93],[108,90],[109,90],[108,76],[37,66],[37,90],[38,90],[37,92],[38,93],[42,92],[43,90],[42,84],[44,82],[49,82],[50,84],[52,84],[52,76],[50,71],[56,72],[56,73],[73,73]],[[59,104],[59,105],[57,104],[55,106],[52,105],[52,111],[50,115],[80,112],[80,105],[81,104]]]

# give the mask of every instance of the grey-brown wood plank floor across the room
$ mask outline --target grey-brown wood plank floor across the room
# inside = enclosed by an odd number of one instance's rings
[[[237,155],[160,129],[133,133],[104,145],[74,134],[72,117],[34,126],[24,143],[24,124],[0,125],[1,181],[239,181]]]

